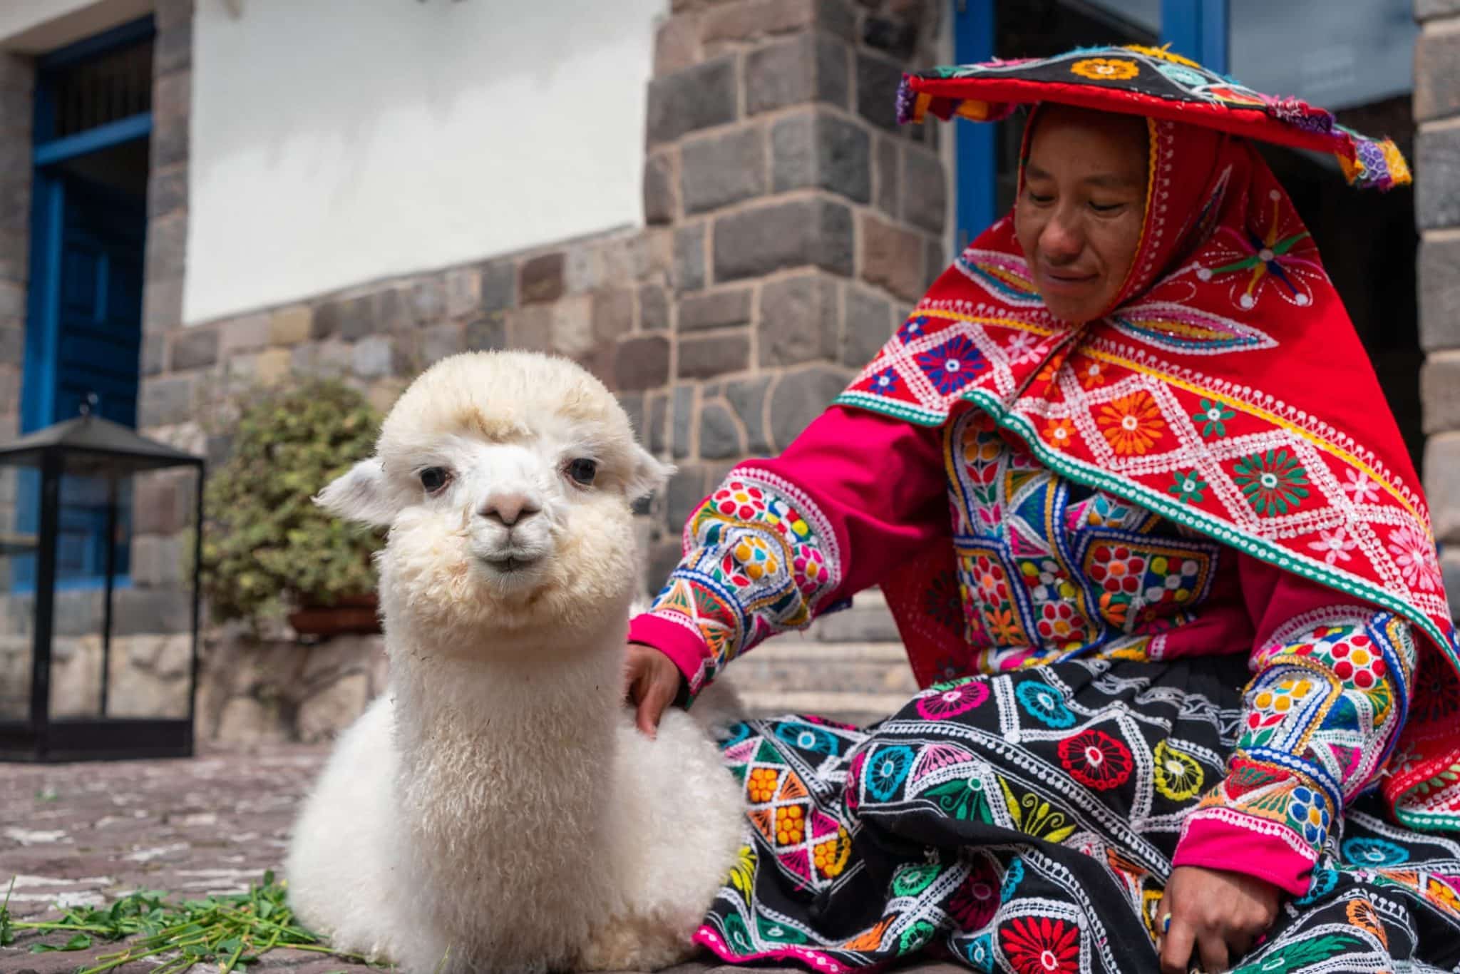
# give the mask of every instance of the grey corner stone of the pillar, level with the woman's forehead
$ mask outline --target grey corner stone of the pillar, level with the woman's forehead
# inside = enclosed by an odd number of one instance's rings
[[[872,136],[854,121],[806,111],[771,130],[771,187],[775,193],[821,188],[857,203],[872,199]]]

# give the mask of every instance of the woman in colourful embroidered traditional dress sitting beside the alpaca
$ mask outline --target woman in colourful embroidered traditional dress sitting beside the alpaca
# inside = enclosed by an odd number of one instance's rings
[[[1381,187],[1399,153],[1150,48],[910,80],[915,117],[1037,105],[1015,210],[691,518],[629,679],[650,729],[880,584],[931,686],[866,732],[737,729],[750,840],[701,940],[813,970],[1460,964],[1428,514],[1240,136]]]

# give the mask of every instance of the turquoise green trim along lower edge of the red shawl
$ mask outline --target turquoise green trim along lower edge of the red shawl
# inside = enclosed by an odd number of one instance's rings
[[[1390,591],[1371,583],[1342,575],[1318,561],[1295,555],[1286,548],[1280,548],[1272,542],[1253,537],[1251,534],[1244,534],[1226,521],[1222,521],[1206,511],[1187,507],[1186,504],[1181,504],[1180,501],[1158,491],[1124,478],[1117,478],[1094,464],[1088,464],[1082,460],[1067,457],[1057,450],[1051,450],[1042,440],[1040,440],[1038,432],[1028,419],[1010,415],[1003,407],[1003,403],[1000,403],[991,393],[986,393],[981,388],[972,388],[965,391],[962,397],[993,416],[994,422],[1004,429],[1018,434],[1034,456],[1060,476],[1069,478],[1070,480],[1083,483],[1089,488],[1108,491],[1110,494],[1133,504],[1140,504],[1156,514],[1161,514],[1178,524],[1186,524],[1187,527],[1199,530],[1203,534],[1248,553],[1253,558],[1259,558],[1269,565],[1282,568],[1283,571],[1291,571],[1295,575],[1308,578],[1310,581],[1317,581],[1321,586],[1336,588],[1345,594],[1356,596],[1365,602],[1391,609],[1409,619],[1413,625],[1419,626],[1425,635],[1434,641],[1440,651],[1450,659],[1451,666],[1460,670],[1460,654],[1457,654],[1456,645],[1445,638],[1445,634],[1440,629],[1440,626],[1435,625],[1434,621],[1431,621],[1424,612]],[[937,426],[948,418],[946,413],[937,415],[927,409],[908,406],[907,403],[889,402],[867,393],[844,393],[837,399],[837,402],[847,406],[869,409],[885,416],[915,422],[923,426]]]

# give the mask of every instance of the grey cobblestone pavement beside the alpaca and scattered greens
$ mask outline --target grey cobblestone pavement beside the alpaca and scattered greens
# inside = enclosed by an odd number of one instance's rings
[[[15,876],[10,913],[39,919],[55,902],[99,905],[139,888],[184,898],[245,892],[266,869],[279,869],[293,810],[326,753],[326,748],[269,746],[188,761],[0,764],[0,895]],[[31,954],[29,946],[41,939],[64,937],[23,933],[13,946],[0,948],[0,971],[72,974],[95,955],[118,949],[102,943],[82,952]],[[137,961],[117,970],[133,974],[152,967]],[[272,951],[247,970],[327,974],[371,968],[318,954]],[[673,974],[715,970],[686,964]],[[917,970],[933,974],[945,965],[921,964]],[[193,971],[216,974],[213,965],[203,964]]]

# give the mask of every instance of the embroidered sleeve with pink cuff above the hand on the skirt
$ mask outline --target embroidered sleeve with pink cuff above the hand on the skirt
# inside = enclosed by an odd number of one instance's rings
[[[1235,869],[1302,895],[1346,805],[1383,771],[1418,650],[1393,612],[1241,559],[1257,632],[1228,775],[1187,816],[1175,866]],[[1340,698],[1349,705],[1333,705]]]

